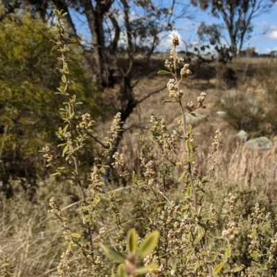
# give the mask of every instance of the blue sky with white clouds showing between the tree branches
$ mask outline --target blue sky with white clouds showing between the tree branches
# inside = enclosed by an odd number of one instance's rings
[[[190,3],[190,0],[180,0],[181,3]],[[170,1],[163,1],[164,6],[169,6]],[[77,15],[75,12],[71,12],[73,21],[78,28],[79,33],[83,35],[87,41],[90,40],[88,36],[89,28],[85,23],[85,19],[82,16]],[[197,26],[204,21],[206,24],[223,23],[221,19],[217,19],[208,12],[201,11],[197,8],[195,18],[193,20],[179,19],[176,21],[175,29],[170,34],[163,34],[163,39],[158,48],[159,51],[166,51],[170,48],[170,41],[173,34],[179,35],[181,38],[181,44],[179,50],[186,49],[186,44],[197,44]],[[269,13],[265,13],[260,17],[253,19],[254,30],[251,39],[244,44],[243,48],[255,47],[258,53],[269,53],[270,51],[277,51],[277,3],[271,8]],[[267,33],[265,33],[267,30]],[[228,38],[228,35],[226,35]],[[169,47],[168,47],[169,46]]]

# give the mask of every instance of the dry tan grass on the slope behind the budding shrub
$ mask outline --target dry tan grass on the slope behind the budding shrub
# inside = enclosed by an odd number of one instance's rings
[[[247,75],[247,83],[238,83],[238,89],[245,91],[245,93],[255,98],[259,104],[265,109],[267,106],[272,106],[272,102],[269,102],[266,95],[266,87],[256,78],[259,66],[273,66],[275,68],[275,62],[271,58],[253,58],[249,59],[249,73]],[[275,61],[275,60],[274,60]],[[245,58],[236,60],[231,66],[236,70],[244,66]],[[207,68],[208,69],[208,68]],[[255,75],[256,74],[256,75]],[[257,76],[258,77],[258,76]],[[269,78],[273,76],[264,76],[265,82],[270,82]],[[157,89],[161,86],[161,83],[166,78],[163,76],[157,76],[157,78],[148,79],[145,78],[136,87],[136,96],[142,97],[145,93],[149,93],[151,90]],[[259,182],[267,191],[269,201],[271,197],[276,195],[276,161],[277,161],[277,150],[276,148],[271,149],[267,152],[259,152],[248,150],[242,143],[236,139],[235,134],[238,130],[234,129],[229,123],[220,116],[216,115],[216,111],[220,110],[220,98],[229,91],[216,89],[215,79],[201,80],[196,78],[190,78],[186,80],[183,85],[185,92],[185,99],[195,99],[202,91],[206,91],[206,106],[207,109],[202,109],[200,113],[207,116],[207,121],[200,123],[199,126],[195,127],[195,132],[201,133],[201,138],[197,139],[198,150],[196,153],[198,170],[201,174],[207,172],[209,163],[206,160],[206,152],[203,149],[207,149],[208,145],[211,145],[211,136],[214,135],[215,129],[220,128],[221,139],[222,139],[222,150],[220,151],[220,157],[218,157],[217,170],[215,171],[214,177],[229,179],[238,181],[247,186],[251,186],[252,183]],[[205,87],[210,87],[205,89]],[[175,109],[173,105],[168,103],[161,105],[163,100],[168,99],[168,91],[166,89],[161,91],[159,94],[155,94],[150,97],[148,101],[145,101],[136,107],[134,113],[125,123],[127,132],[124,135],[121,151],[127,153],[127,161],[130,169],[139,170],[140,163],[139,159],[139,138],[141,136],[148,136],[148,121],[151,114],[159,114],[159,118],[165,118],[168,124],[168,129],[172,132],[175,126],[177,126],[177,119],[179,118],[179,109]],[[235,108],[235,107],[234,107]],[[261,128],[265,123],[264,115],[260,114]],[[262,132],[266,132],[262,129]],[[259,130],[253,132],[253,135],[259,134]],[[276,134],[268,132],[266,134],[269,139],[274,139]],[[181,148],[177,159],[183,159],[185,157],[184,149]]]

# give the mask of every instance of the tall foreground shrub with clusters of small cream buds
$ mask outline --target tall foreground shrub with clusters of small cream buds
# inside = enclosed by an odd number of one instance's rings
[[[125,169],[125,155],[117,149],[114,168],[126,178],[130,186],[125,202],[118,198],[118,190],[109,190],[103,173],[120,131],[120,114],[114,117],[101,159],[94,161],[90,178],[82,177],[79,155],[93,121],[89,114],[77,116],[78,102],[73,94],[70,64],[66,58],[69,46],[64,30],[64,13],[55,10],[57,25],[54,49],[60,51],[59,60],[62,84],[58,92],[64,97],[64,108],[60,109],[64,126],[57,131],[61,140],[61,156],[67,166],[60,166],[47,146],[42,152],[55,169],[54,175],[64,177],[69,186],[78,186],[80,222],[71,224],[57,205],[55,196],[50,200],[51,211],[63,229],[64,250],[55,276],[276,276],[277,224],[274,217],[260,208],[253,208],[251,233],[249,233],[250,267],[237,264],[233,253],[234,242],[240,233],[238,213],[235,213],[235,197],[226,194],[221,207],[207,204],[211,175],[216,168],[215,159],[220,146],[219,130],[215,131],[206,159],[210,170],[205,176],[197,174],[195,161],[195,136],[193,127],[186,124],[186,115],[204,109],[206,93],[197,98],[197,104],[187,101],[181,85],[190,75],[188,64],[177,56],[179,39],[172,39],[172,50],[166,60],[166,70],[159,74],[170,75],[169,99],[165,105],[179,106],[179,126],[169,134],[166,120],[151,116],[150,138],[141,137],[141,172]],[[179,145],[186,145],[186,159],[179,160]],[[157,151],[158,150],[158,151]],[[181,155],[184,157],[184,155]],[[154,170],[155,168],[155,170]],[[157,170],[157,168],[159,170]],[[178,172],[178,173],[177,173]],[[104,188],[105,186],[105,188]],[[172,190],[178,191],[173,197]],[[222,195],[220,193],[219,195]],[[127,207],[127,208],[126,208]],[[128,212],[127,212],[128,210]],[[218,211],[220,213],[218,214]],[[126,218],[127,214],[127,218]],[[222,224],[218,224],[218,218]],[[136,229],[136,230],[135,230]],[[129,230],[129,231],[128,231]],[[1,259],[1,276],[8,276],[9,262]]]

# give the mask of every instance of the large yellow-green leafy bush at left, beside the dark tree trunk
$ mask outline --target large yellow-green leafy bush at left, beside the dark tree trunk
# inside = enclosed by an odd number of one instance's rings
[[[60,84],[49,41],[53,34],[47,22],[26,10],[3,17],[0,28],[0,180],[6,186],[10,176],[27,178],[25,186],[34,188],[37,177],[45,175],[37,153],[45,141],[57,144],[55,130],[61,122],[61,105],[53,93]],[[77,41],[71,44],[71,73],[78,77],[73,89],[80,101],[86,99],[87,111],[98,116],[99,94],[85,75]]]

